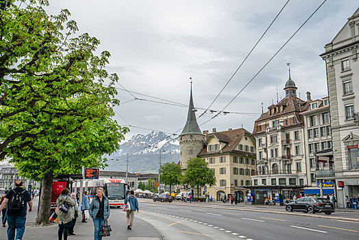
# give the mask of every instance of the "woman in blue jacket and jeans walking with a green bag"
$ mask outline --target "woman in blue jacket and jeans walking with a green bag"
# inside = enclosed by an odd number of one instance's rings
[[[102,236],[99,235],[100,227],[105,224],[105,221],[110,217],[110,204],[108,198],[103,194],[103,188],[97,189],[97,195],[92,198],[88,213],[92,217],[93,226],[95,231],[93,233],[94,240],[101,240]]]

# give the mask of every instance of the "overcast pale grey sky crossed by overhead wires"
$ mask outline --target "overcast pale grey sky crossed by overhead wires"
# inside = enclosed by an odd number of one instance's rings
[[[214,102],[221,110],[257,71],[273,56],[322,1],[291,0],[232,82]],[[283,1],[50,1],[49,14],[67,8],[77,21],[79,32],[101,40],[99,51],[112,54],[108,71],[118,73],[129,91],[188,104],[193,78],[195,106],[207,108],[254,43],[286,3]],[[328,0],[304,28],[226,109],[232,112],[261,112],[276,101],[276,87],[284,97],[284,84],[291,75],[301,94],[312,98],[327,95],[325,62],[319,54],[336,36],[358,1]],[[139,98],[150,99],[136,95]],[[119,91],[122,102],[134,99]],[[153,99],[154,100],[154,99]],[[175,132],[184,127],[187,109],[179,106],[131,101],[115,108],[131,125]],[[198,110],[197,117],[203,112]],[[199,124],[213,115],[204,115]],[[253,130],[257,116],[229,114],[201,125],[217,131],[243,127]],[[121,125],[127,125],[116,116]],[[132,128],[133,134],[148,130]]]

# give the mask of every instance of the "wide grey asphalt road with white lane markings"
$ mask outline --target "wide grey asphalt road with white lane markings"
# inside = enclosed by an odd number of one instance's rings
[[[207,229],[227,232],[245,239],[359,239],[359,222],[303,217],[277,213],[258,213],[220,208],[200,208],[190,204],[140,202],[140,209],[154,215],[183,218]],[[316,213],[323,214],[323,213]],[[209,231],[209,230],[208,230]],[[206,235],[206,228],[201,228]],[[190,236],[188,239],[196,239]],[[217,238],[226,239],[226,238]]]

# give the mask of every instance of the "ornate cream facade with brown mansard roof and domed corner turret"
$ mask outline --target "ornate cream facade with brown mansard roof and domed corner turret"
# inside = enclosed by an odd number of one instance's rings
[[[280,193],[279,189],[282,198],[293,199],[294,189],[303,189],[307,184],[304,121],[300,113],[309,105],[297,97],[297,86],[290,72],[284,90],[286,97],[269,106],[254,125],[257,172],[251,177],[253,186],[272,186],[256,196],[259,201],[267,196],[273,199]]]

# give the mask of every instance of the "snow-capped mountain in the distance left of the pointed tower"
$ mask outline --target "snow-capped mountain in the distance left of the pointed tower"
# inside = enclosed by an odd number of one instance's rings
[[[160,151],[162,164],[180,160],[180,142],[175,137],[154,131],[147,135],[137,134],[123,141],[117,152],[106,156],[106,169],[125,171],[128,154],[129,172],[154,173],[159,168]]]

